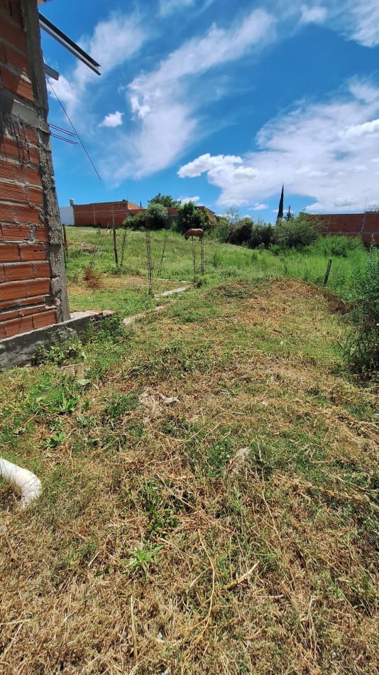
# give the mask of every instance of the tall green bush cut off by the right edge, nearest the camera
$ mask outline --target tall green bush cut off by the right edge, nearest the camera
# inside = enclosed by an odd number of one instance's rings
[[[357,274],[355,324],[346,344],[345,355],[354,372],[378,379],[379,369],[379,249],[371,247],[366,268]]]

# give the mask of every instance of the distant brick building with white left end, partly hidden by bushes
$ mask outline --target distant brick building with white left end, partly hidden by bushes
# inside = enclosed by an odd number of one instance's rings
[[[209,220],[214,220],[214,212],[206,206],[197,206],[197,209],[207,213]],[[167,211],[169,221],[172,223],[177,218],[177,207],[169,207]],[[86,225],[120,227],[126,218],[143,212],[145,212],[143,207],[126,199],[120,202],[94,202],[92,204],[75,204],[74,200],[70,199],[70,206],[60,207],[60,220],[65,225],[77,227]]]

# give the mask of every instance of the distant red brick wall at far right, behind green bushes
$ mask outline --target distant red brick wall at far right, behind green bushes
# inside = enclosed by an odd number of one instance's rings
[[[308,214],[310,220],[321,225],[321,234],[344,234],[345,237],[361,237],[366,245],[372,242],[379,246],[379,213],[322,213]]]

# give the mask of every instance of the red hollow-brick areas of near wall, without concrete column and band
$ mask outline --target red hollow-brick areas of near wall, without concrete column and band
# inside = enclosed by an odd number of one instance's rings
[[[33,102],[19,0],[0,0],[0,87]],[[49,231],[43,211],[38,131],[9,116],[0,128],[0,339],[57,322],[51,297]]]

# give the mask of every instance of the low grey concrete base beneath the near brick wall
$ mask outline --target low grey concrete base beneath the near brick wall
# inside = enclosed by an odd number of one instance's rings
[[[0,340],[0,372],[13,366],[31,363],[39,345],[48,347],[55,342],[75,338],[92,323],[97,323],[113,314],[114,312],[111,311],[72,312],[68,321]]]

